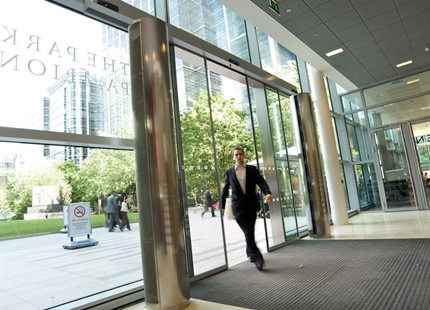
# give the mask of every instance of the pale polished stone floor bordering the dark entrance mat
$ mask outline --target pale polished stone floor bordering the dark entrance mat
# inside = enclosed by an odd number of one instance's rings
[[[430,210],[383,213],[366,211],[349,219],[349,225],[331,226],[331,239],[430,238]],[[269,254],[266,254],[269,255]],[[127,310],[146,309],[144,303]],[[186,310],[244,309],[191,299]]]

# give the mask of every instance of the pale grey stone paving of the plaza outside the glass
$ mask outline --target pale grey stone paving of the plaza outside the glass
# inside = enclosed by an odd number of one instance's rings
[[[225,264],[219,211],[216,214],[201,218],[200,209],[189,211],[195,274]],[[235,220],[224,217],[223,223],[232,266],[246,260],[244,236]],[[264,231],[264,220],[257,219],[256,239],[262,252],[266,252]],[[93,228],[91,238],[98,245],[74,250],[63,248],[70,239],[60,232],[0,241],[0,308],[46,309],[142,281],[138,223],[124,232]],[[86,236],[74,238],[83,239]]]

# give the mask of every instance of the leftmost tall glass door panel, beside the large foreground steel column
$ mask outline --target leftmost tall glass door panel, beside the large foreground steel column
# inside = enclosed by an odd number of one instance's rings
[[[210,189],[218,202],[218,175],[215,168],[209,85],[221,84],[219,76],[206,77],[201,57],[175,48],[176,87],[183,157],[182,192],[185,205],[187,257],[190,275],[225,266],[225,251],[219,211],[203,214],[204,192]],[[211,210],[209,210],[211,211]],[[188,239],[188,238],[187,238]]]

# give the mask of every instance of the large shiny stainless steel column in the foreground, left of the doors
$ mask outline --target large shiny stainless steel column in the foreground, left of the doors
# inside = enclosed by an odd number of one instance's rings
[[[190,303],[179,203],[166,24],[129,27],[137,201],[145,302],[149,309]]]

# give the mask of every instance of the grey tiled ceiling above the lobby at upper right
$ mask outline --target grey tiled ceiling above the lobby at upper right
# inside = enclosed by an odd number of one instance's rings
[[[276,15],[267,0],[251,1]],[[281,16],[273,18],[359,88],[430,70],[430,52],[424,50],[430,47],[430,0],[282,0],[279,4]],[[279,31],[269,35],[275,40],[284,37]],[[325,55],[338,47],[344,52]],[[396,67],[406,60],[412,64]]]

